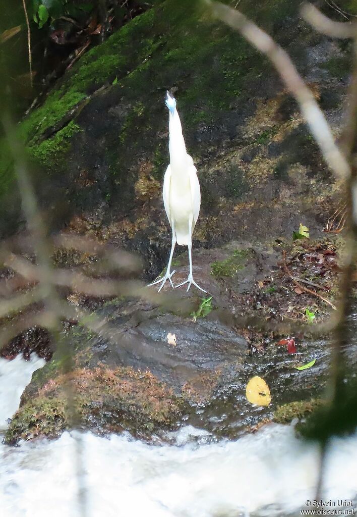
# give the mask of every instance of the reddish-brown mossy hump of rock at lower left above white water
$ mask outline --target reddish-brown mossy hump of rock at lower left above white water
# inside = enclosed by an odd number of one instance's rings
[[[184,408],[183,399],[148,371],[82,368],[49,379],[23,403],[5,441],[55,437],[73,427],[99,433],[127,430],[148,438],[175,427]]]

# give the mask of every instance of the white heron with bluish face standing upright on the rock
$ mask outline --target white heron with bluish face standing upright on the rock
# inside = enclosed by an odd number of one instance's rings
[[[171,286],[174,287],[171,277],[176,271],[170,272],[170,269],[177,242],[180,246],[188,247],[190,273],[185,282],[175,287],[189,284],[187,288],[187,291],[189,291],[193,284],[200,291],[207,293],[207,291],[196,284],[192,274],[192,233],[198,219],[199,206],[201,204],[197,169],[193,164],[191,156],[187,154],[182,135],[181,121],[176,109],[176,99],[170,95],[169,92],[166,93],[165,104],[169,110],[168,149],[170,153],[170,163],[167,166],[164,176],[162,196],[167,219],[172,228],[172,245],[165,275],[149,285],[161,282],[159,293],[166,280],[169,280]]]

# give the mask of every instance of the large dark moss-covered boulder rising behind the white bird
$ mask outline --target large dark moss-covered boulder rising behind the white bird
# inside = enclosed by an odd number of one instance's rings
[[[242,0],[239,8],[290,52],[338,131],[348,45],[315,34],[290,0],[263,0],[259,9]],[[160,187],[166,89],[178,99],[201,183],[196,245],[286,235],[301,220],[321,228],[333,180],[297,106],[265,58],[188,0],[156,2],[91,49],[20,125],[55,227],[66,221],[71,231],[137,250],[149,276],[161,270],[169,242]],[[3,150],[9,231],[19,204]]]

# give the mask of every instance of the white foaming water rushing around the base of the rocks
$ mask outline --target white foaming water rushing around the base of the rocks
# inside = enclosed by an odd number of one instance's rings
[[[0,359],[0,421],[17,408],[32,372],[43,365]],[[0,448],[2,517],[238,517],[300,515],[313,500],[318,448],[291,425],[216,441],[191,426],[156,445],[129,435],[64,433]],[[357,495],[357,433],[332,440],[323,500]],[[329,507],[330,508],[330,507]],[[346,507],[351,509],[351,507]]]

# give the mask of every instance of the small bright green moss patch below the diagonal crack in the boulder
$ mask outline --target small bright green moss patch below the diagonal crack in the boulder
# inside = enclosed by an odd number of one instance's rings
[[[61,157],[71,146],[72,136],[80,131],[80,126],[72,120],[52,138],[30,147],[30,154],[46,166],[58,165]]]

